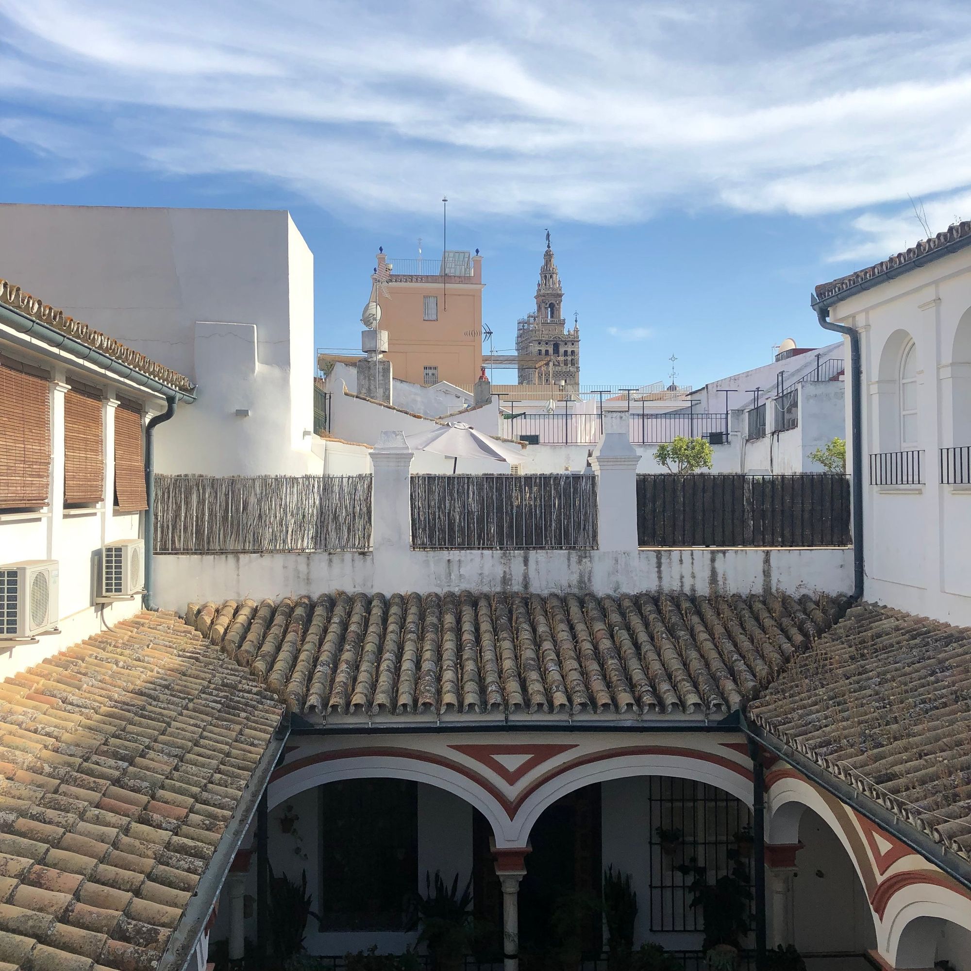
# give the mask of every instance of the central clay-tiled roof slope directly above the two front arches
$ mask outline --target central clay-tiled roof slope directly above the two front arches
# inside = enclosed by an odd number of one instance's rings
[[[723,715],[843,599],[325,593],[190,604],[185,620],[311,717]]]

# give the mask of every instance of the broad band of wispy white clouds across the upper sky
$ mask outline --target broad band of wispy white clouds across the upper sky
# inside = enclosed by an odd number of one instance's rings
[[[858,214],[971,185],[959,0],[562,0],[554,29],[538,0],[0,0],[0,27],[17,106],[0,136],[330,208],[409,214],[446,191],[469,217],[614,223]],[[905,223],[857,217],[834,258]]]

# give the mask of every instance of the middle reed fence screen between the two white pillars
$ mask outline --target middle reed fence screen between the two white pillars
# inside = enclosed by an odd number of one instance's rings
[[[416,550],[594,550],[592,475],[412,476]]]

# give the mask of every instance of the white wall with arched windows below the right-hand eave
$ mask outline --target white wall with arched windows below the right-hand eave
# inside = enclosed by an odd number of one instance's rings
[[[831,309],[830,319],[860,334],[865,595],[971,624],[971,490],[939,481],[939,450],[971,445],[971,249],[850,297]],[[917,349],[924,482],[871,485],[869,455],[901,447],[897,377],[908,339]]]

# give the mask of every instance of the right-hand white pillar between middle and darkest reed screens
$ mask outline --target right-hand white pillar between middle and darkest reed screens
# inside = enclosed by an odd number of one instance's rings
[[[590,464],[597,474],[600,550],[637,549],[637,463],[627,412],[604,412],[604,434]]]

